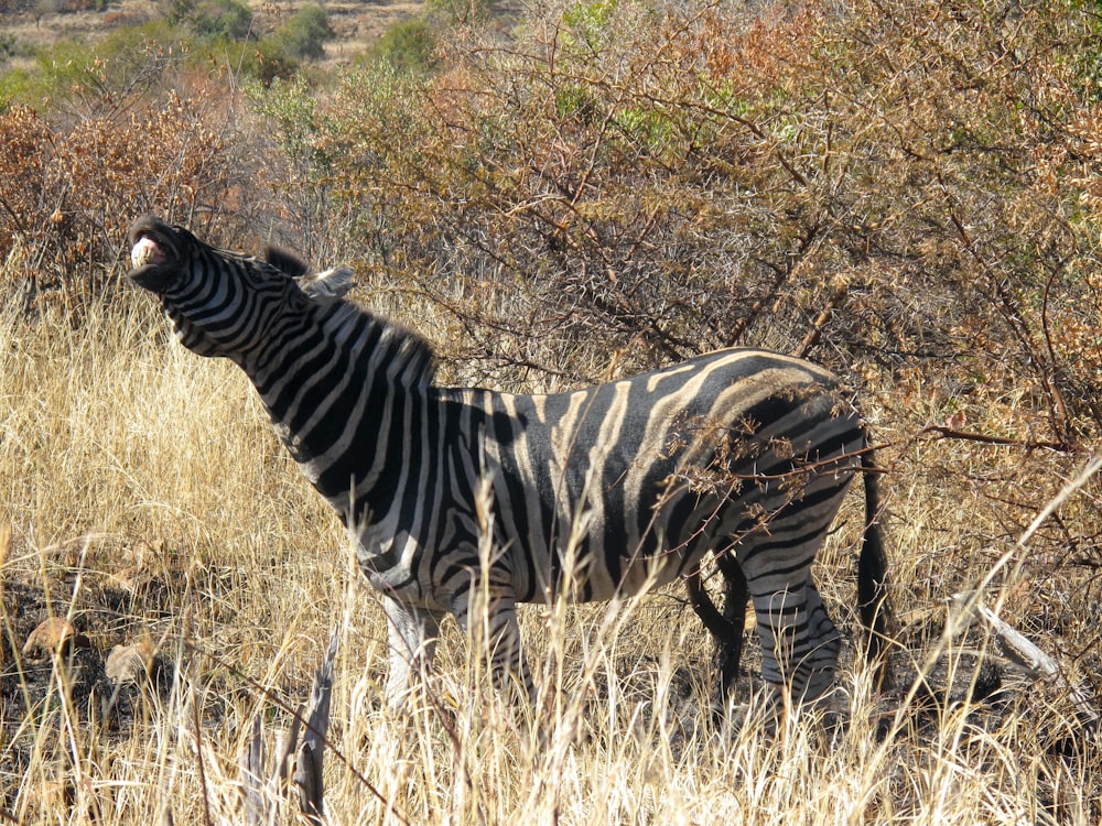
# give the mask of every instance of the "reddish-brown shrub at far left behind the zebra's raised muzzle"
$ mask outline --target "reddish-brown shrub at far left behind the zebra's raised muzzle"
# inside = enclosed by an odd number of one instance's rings
[[[0,117],[0,176],[12,184],[0,195],[4,304],[56,296],[79,312],[116,284],[132,218],[217,218],[230,164],[203,117],[210,102],[173,96],[69,128],[23,106]]]

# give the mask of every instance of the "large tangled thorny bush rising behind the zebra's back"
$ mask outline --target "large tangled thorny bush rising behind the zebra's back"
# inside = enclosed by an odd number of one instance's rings
[[[452,43],[423,90],[346,84],[325,140],[347,208],[432,274],[488,381],[766,345],[855,379],[921,365],[922,415],[1025,387],[1033,413],[993,426],[1072,445],[1102,421],[1102,115],[1073,68],[1094,23],[1008,13],[571,2]]]

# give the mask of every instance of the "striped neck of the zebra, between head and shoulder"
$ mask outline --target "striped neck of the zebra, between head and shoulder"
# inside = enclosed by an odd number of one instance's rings
[[[423,338],[352,304],[313,305],[242,365],[306,477],[342,513],[377,510],[400,419],[423,400],[432,350]]]

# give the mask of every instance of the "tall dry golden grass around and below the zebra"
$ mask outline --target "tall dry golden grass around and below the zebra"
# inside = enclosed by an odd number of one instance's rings
[[[775,735],[753,702],[714,725],[702,710],[712,696],[704,632],[676,590],[614,612],[525,613],[536,671],[555,687],[544,746],[485,687],[484,663],[454,623],[423,708],[389,715],[382,616],[341,525],[283,455],[244,377],[171,343],[143,298],[125,303],[94,308],[78,329],[0,319],[0,529],[12,535],[0,570],[0,820],[149,824],[171,812],[175,823],[240,823],[237,764],[251,722],[260,715],[270,741],[287,727],[285,706],[305,698],[334,626],[332,823],[1099,816],[1102,758],[1054,751],[1059,738],[1087,738],[1066,698],[1023,677],[1004,677],[997,703],[920,713],[903,705],[907,684],[876,695],[850,665],[830,709]],[[965,524],[960,498],[946,501],[914,457],[895,458],[896,604],[920,617],[903,639],[901,674],[934,650],[946,588],[980,582],[995,558],[975,537],[1002,529],[982,500]],[[825,554],[832,604],[847,599],[856,521]],[[1017,587],[1004,577],[990,604]],[[1028,599],[1012,609],[1012,621],[1028,617]],[[89,646],[23,655],[46,616],[71,618]],[[143,640],[160,671],[125,686],[107,719],[102,660]],[[968,654],[953,642],[937,680],[972,678]],[[1071,676],[1096,680],[1090,662]],[[294,822],[293,807],[282,811]]]

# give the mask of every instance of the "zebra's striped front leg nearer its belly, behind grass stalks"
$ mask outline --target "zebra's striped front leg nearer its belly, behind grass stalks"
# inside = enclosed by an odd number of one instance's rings
[[[460,627],[473,644],[488,654],[494,686],[514,702],[536,703],[536,683],[520,645],[517,604],[509,595],[487,595],[485,607],[473,610],[469,593],[455,599],[454,612]],[[476,601],[476,605],[483,599]],[[479,623],[475,626],[474,623]]]

